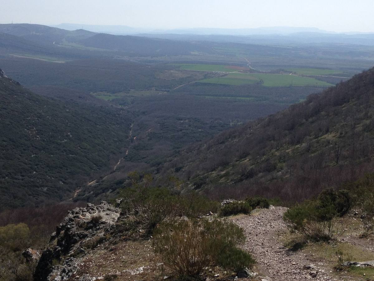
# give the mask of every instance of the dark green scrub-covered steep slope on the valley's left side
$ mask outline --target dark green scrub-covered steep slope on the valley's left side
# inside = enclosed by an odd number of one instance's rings
[[[0,108],[0,210],[67,198],[127,146],[127,112],[39,96],[2,71]]]

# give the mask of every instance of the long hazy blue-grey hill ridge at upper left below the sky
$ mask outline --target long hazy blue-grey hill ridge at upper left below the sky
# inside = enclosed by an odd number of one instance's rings
[[[0,24],[0,34],[12,37],[17,48],[6,48],[5,52],[28,52],[29,45],[33,53],[45,53],[56,57],[87,58],[120,56],[163,56],[189,55],[193,52],[215,54],[211,44],[201,42],[180,42],[162,38],[144,36],[123,36],[95,33],[83,29],[74,31],[37,24]],[[18,42],[21,41],[21,42]],[[4,45],[0,42],[0,48]],[[38,51],[38,48],[43,51]]]

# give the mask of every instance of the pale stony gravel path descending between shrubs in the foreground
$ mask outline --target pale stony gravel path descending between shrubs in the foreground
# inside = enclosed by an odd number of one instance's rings
[[[260,272],[262,280],[337,280],[329,276],[322,263],[313,265],[304,254],[289,251],[283,246],[279,238],[287,233],[282,219],[286,210],[283,207],[262,209],[254,215],[234,219],[245,229],[248,238],[244,248],[256,258],[256,271]],[[313,272],[317,272],[316,277],[311,276]]]

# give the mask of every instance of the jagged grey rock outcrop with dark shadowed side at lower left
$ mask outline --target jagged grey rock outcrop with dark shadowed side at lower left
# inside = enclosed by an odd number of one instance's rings
[[[75,208],[56,227],[37,264],[35,281],[67,280],[87,249],[115,227],[120,209],[102,201],[95,206]]]

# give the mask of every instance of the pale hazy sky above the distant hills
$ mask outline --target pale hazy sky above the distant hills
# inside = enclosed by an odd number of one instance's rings
[[[144,28],[318,27],[374,32],[374,0],[0,0],[0,23]]]

